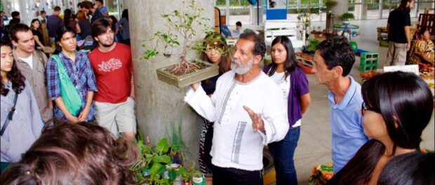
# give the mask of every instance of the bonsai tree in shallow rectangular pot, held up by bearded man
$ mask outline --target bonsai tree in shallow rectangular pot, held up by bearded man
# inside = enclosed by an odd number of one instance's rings
[[[193,41],[192,38],[196,34],[205,33],[212,30],[212,28],[203,23],[210,22],[210,19],[201,17],[204,9],[199,8],[195,0],[183,1],[183,3],[184,6],[179,9],[161,15],[166,20],[166,30],[154,34],[154,38],[151,39],[153,46],[149,48],[145,44],[142,45],[147,49],[142,55],[145,59],[160,54],[159,43],[163,44],[163,55],[179,57],[178,64],[157,69],[157,77],[160,81],[175,85],[178,88],[219,74],[219,67],[216,65],[199,59],[191,60],[187,58],[192,50],[200,50],[200,48],[206,47],[199,47],[200,45],[197,44],[199,41]],[[181,53],[172,53],[173,48],[180,45]]]

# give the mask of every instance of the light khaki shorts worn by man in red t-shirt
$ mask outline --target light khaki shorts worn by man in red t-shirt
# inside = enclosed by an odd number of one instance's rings
[[[111,104],[95,101],[95,121],[107,128],[115,137],[119,132],[136,132],[135,100]]]

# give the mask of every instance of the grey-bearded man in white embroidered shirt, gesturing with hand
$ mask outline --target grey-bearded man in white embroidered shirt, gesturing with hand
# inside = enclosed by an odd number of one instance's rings
[[[263,146],[287,134],[282,90],[258,66],[265,52],[262,36],[241,34],[232,53],[232,70],[217,79],[215,93],[209,97],[193,83],[185,96],[198,114],[215,122],[210,151],[213,184],[262,184]]]

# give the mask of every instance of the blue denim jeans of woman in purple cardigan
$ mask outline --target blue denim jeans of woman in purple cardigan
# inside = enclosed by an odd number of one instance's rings
[[[295,169],[295,150],[297,140],[299,140],[300,127],[290,128],[286,137],[279,141],[269,144],[269,151],[274,157],[276,184],[297,184]]]

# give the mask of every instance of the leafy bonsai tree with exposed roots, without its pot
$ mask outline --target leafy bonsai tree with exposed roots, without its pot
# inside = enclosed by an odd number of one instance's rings
[[[180,7],[171,13],[162,14],[161,17],[166,20],[166,31],[156,32],[154,37],[151,39],[154,45],[149,48],[145,44],[142,47],[147,48],[145,53],[142,55],[143,58],[149,59],[159,55],[158,51],[159,44],[163,44],[163,55],[169,56],[172,53],[172,49],[175,46],[181,46],[181,53],[175,55],[180,56],[178,64],[173,65],[168,68],[171,74],[181,75],[188,74],[197,69],[201,69],[201,66],[196,62],[190,62],[187,59],[187,54],[191,50],[199,50],[199,45],[192,41],[192,38],[196,34],[202,34],[208,30],[212,30],[203,22],[210,22],[210,19],[203,18],[203,8],[199,8],[195,0],[183,1],[184,6]],[[200,27],[200,29],[198,29]],[[168,51],[168,48],[170,50]],[[170,53],[166,53],[170,52]]]

